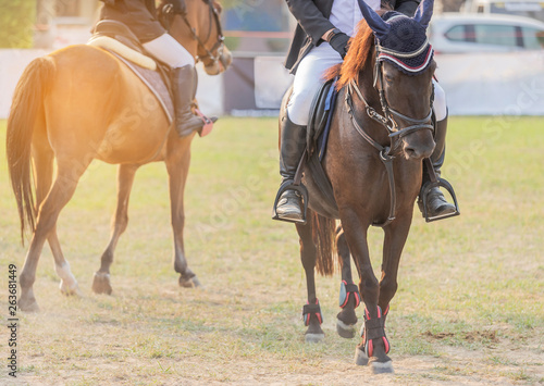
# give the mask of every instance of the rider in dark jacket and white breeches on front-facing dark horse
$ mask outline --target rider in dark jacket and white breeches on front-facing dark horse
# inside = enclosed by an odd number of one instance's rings
[[[362,20],[358,0],[286,0],[290,12],[298,21],[285,66],[295,74],[293,94],[287,112],[281,122],[280,174],[282,186],[293,182],[299,161],[306,149],[306,128],[313,96],[329,67],[342,63],[347,53],[348,40],[355,36]],[[380,0],[366,0],[374,10],[381,8]],[[386,4],[395,11],[413,16],[418,0],[391,0]],[[440,176],[444,162],[447,128],[446,97],[442,87],[434,85],[434,114],[436,147],[431,155],[432,165]],[[422,197],[420,197],[420,209]],[[454,213],[456,207],[448,203],[437,187],[426,196],[430,217]],[[276,215],[280,220],[302,222],[302,202],[298,191],[285,190],[277,201]]]

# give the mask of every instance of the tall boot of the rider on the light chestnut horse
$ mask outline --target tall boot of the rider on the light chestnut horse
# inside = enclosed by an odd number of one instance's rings
[[[191,65],[172,69],[171,76],[177,134],[180,137],[185,137],[193,132],[200,132],[203,121],[190,111],[196,82],[195,69]]]

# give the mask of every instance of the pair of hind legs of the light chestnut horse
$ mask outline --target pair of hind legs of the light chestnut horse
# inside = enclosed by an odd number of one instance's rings
[[[65,281],[64,283],[69,288],[74,285],[71,282],[73,275],[70,272],[70,266],[62,257],[62,252],[60,252],[60,245],[58,244],[55,234],[55,225],[61,210],[74,195],[79,177],[87,169],[88,162],[86,164],[82,164],[77,160],[66,160],[59,162],[58,166],[58,175],[52,188],[39,207],[36,228],[34,231],[30,247],[20,276],[21,298],[18,307],[22,311],[39,311],[38,303],[36,302],[36,298],[34,296],[33,286],[36,281],[38,260],[41,254],[41,250],[44,249],[46,239],[51,242],[51,250],[53,251],[53,256],[55,258],[55,269],[59,267],[57,272],[60,273],[61,278]],[[47,183],[47,180],[45,182]]]

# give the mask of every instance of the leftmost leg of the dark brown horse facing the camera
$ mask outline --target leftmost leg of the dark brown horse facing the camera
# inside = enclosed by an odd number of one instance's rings
[[[313,216],[308,210],[308,219]],[[306,225],[296,224],[298,236],[300,237],[300,260],[306,273],[306,288],[308,300],[302,307],[302,319],[308,327],[305,333],[306,343],[321,343],[325,338],[325,333],[321,328],[323,315],[319,306],[316,291],[316,259],[317,248],[312,237],[312,225],[309,221]]]

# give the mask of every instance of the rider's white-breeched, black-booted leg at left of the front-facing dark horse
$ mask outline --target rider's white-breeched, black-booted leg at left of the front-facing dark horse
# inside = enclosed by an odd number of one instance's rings
[[[282,184],[295,178],[298,163],[306,149],[308,115],[313,97],[324,82],[322,75],[329,67],[341,62],[341,55],[331,46],[323,43],[313,48],[298,65],[287,111],[280,123]],[[288,189],[277,201],[276,214],[282,220],[301,221],[304,220],[301,207],[301,198],[296,191]]]

